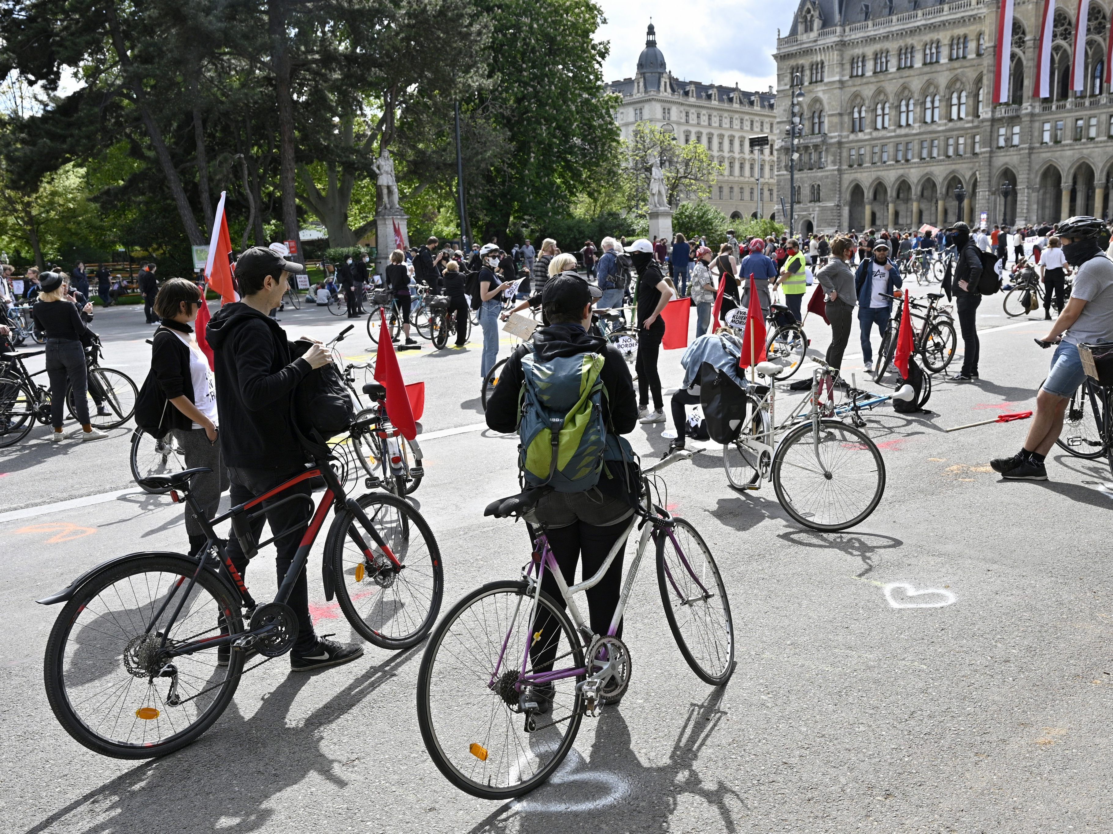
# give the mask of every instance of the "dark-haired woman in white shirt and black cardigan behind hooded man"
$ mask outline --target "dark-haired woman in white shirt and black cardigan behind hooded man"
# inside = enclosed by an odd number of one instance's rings
[[[197,285],[185,278],[170,278],[159,287],[155,312],[161,326],[151,339],[150,373],[166,398],[164,426],[169,426],[181,448],[186,468],[205,467],[211,470],[197,475],[190,481],[201,513],[211,520],[229,480],[217,441],[216,378],[193,328],[203,304],[205,301]],[[195,556],[205,544],[206,536],[188,506],[186,535],[189,538],[189,555]]]

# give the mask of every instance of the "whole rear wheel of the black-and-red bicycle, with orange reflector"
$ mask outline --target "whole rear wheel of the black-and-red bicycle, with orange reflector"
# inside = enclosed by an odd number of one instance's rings
[[[242,652],[232,652],[227,666],[217,664],[215,647],[179,655],[169,661],[177,675],[158,676],[164,634],[174,646],[244,631],[239,599],[210,570],[198,575],[170,622],[196,567],[184,556],[151,554],[108,568],[55,620],[43,661],[47,699],[89,749],[114,758],[166,755],[200,736],[232,701]]]

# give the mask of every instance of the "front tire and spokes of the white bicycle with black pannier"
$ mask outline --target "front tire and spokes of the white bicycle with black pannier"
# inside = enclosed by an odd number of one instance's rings
[[[849,518],[817,520],[817,516],[819,514],[816,510],[801,509],[794,502],[794,495],[799,496],[800,498],[808,497],[806,494],[809,487],[804,486],[798,488],[795,480],[792,480],[791,488],[786,486],[784,474],[785,469],[791,469],[794,476],[796,475],[797,469],[805,471],[808,471],[808,469],[796,460],[789,461],[789,465],[786,467],[786,458],[788,458],[791,454],[792,448],[798,444],[801,444],[801,441],[807,444],[807,446],[812,445],[812,440],[810,439],[810,435],[815,428],[812,420],[801,423],[799,426],[790,428],[788,434],[781,438],[780,444],[777,446],[777,451],[772,457],[772,485],[774,489],[777,492],[777,500],[780,502],[780,506],[784,507],[785,512],[788,513],[788,515],[791,516],[791,518],[798,524],[801,524],[805,527],[810,527],[814,530],[845,530],[846,528],[854,527],[868,518],[880,503],[881,496],[885,494],[885,460],[881,458],[881,453],[878,450],[877,445],[869,438],[869,435],[858,427],[836,419],[821,419],[818,423],[819,430],[828,435],[828,437],[819,438],[819,441],[824,444],[825,451],[827,451],[828,455],[837,451],[837,449],[827,446],[828,439],[833,439],[834,444],[843,447],[844,451],[855,450],[856,446],[861,445],[865,447],[865,450],[870,454],[873,471],[870,473],[869,469],[866,468],[866,471],[863,475],[863,480],[865,481],[867,478],[870,478],[873,480],[873,490],[871,494],[869,494],[869,498],[865,503],[865,506]],[[836,435],[838,437],[835,437]],[[808,461],[809,455],[811,455],[811,459],[814,460],[814,449],[809,449],[804,453],[805,461]],[[830,460],[828,463],[830,463]],[[856,459],[855,463],[858,464],[858,459]],[[865,461],[863,460],[863,463]],[[816,486],[810,487],[810,489],[816,492],[821,489],[823,492],[830,493],[833,489],[837,489],[839,486],[850,483],[845,474],[836,475],[830,466],[827,465],[824,466],[824,471],[819,471],[815,468],[810,469],[810,471],[819,475],[819,478],[814,479],[816,481]],[[838,515],[843,516],[847,514],[839,513]]]

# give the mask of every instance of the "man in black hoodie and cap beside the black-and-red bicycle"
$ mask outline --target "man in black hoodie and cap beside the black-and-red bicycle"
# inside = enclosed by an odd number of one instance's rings
[[[233,506],[263,495],[283,481],[305,471],[305,453],[294,435],[290,401],[298,383],[314,368],[332,361],[319,342],[313,342],[299,358],[292,358],[286,331],[268,312],[282,302],[292,275],[302,266],[285,260],[266,247],[256,246],[236,261],[236,282],[244,294],[242,301],[225,305],[206,329],[216,363],[216,407],[220,418],[220,451],[232,480]],[[311,494],[303,480],[276,496]],[[265,502],[264,507],[269,503]],[[275,542],[278,552],[278,584],[282,585],[309,517],[312,506],[303,500],[268,510],[273,533],[289,529]],[[294,526],[290,529],[292,525]],[[252,523],[257,542],[263,519]],[[228,554],[236,569],[245,574],[247,558],[239,539],[232,536]],[[345,646],[318,638],[309,617],[308,584],[303,569],[294,583],[287,605],[297,615],[297,642],[290,654],[290,668],[307,672],[354,661],[363,654],[359,646]]]

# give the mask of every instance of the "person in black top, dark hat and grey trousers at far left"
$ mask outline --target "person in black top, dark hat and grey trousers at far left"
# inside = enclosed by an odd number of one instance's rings
[[[99,440],[108,437],[107,431],[93,428],[89,423],[89,377],[85,360],[82,338],[92,335],[81,320],[81,311],[69,299],[67,287],[58,272],[43,272],[39,279],[39,296],[31,307],[35,327],[47,340],[47,377],[50,379],[50,425],[53,426],[51,441],[62,439]],[[87,304],[86,312],[92,305]],[[62,434],[62,414],[66,395],[72,389],[73,410],[79,428]]]

